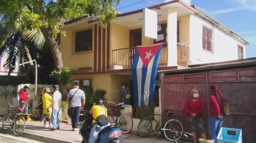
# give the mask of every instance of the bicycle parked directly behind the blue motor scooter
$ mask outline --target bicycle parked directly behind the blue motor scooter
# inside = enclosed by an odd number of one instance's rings
[[[104,101],[104,102],[107,104],[108,113],[110,113],[110,116],[112,117],[114,123],[116,123],[120,127],[120,131],[123,134],[127,134],[128,132],[130,132],[131,129],[133,128],[133,119],[130,115],[121,113],[121,111],[125,109],[124,107],[121,106],[123,105],[123,103],[115,104],[107,101]],[[116,110],[118,111],[118,114],[117,114],[116,120],[114,119],[113,114],[111,113],[112,106],[117,107]]]

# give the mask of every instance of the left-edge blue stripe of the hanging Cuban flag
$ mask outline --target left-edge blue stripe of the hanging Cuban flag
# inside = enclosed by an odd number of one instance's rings
[[[137,81],[137,64],[138,64],[138,61],[139,61],[139,53],[137,52],[137,49],[135,49],[135,54],[134,54],[134,57],[133,57],[133,65],[131,66],[131,72],[132,72],[132,77],[133,77],[133,94],[134,94],[134,105],[135,106],[138,106],[138,98],[139,98],[139,95],[138,95],[138,81]]]

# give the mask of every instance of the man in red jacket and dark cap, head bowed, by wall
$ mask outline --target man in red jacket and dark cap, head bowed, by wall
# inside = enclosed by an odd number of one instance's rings
[[[20,89],[18,92],[19,98],[20,98],[20,108],[23,109],[23,113],[27,114],[27,107],[28,107],[28,98],[29,94],[27,94],[27,89],[29,87],[25,85],[23,88]],[[31,118],[27,116],[27,121],[31,121]],[[23,120],[20,119],[20,122],[23,122]]]

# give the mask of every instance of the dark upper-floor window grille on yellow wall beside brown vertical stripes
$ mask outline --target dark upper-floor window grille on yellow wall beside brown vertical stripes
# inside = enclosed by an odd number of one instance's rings
[[[72,55],[92,52],[92,33],[92,27],[72,31]]]

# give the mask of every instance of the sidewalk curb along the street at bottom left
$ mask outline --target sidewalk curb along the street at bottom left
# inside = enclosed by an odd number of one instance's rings
[[[8,134],[13,134],[14,132],[10,129],[10,128],[3,128],[1,133],[8,133]],[[27,131],[24,131],[23,134],[20,135],[20,137],[27,137],[27,138],[31,138],[34,140],[38,140],[38,141],[43,141],[43,142],[47,142],[47,143],[79,143],[77,141],[72,141],[72,140],[64,140],[61,138],[53,138],[53,137],[47,137],[47,136],[41,136],[38,135],[36,133],[30,134]]]

